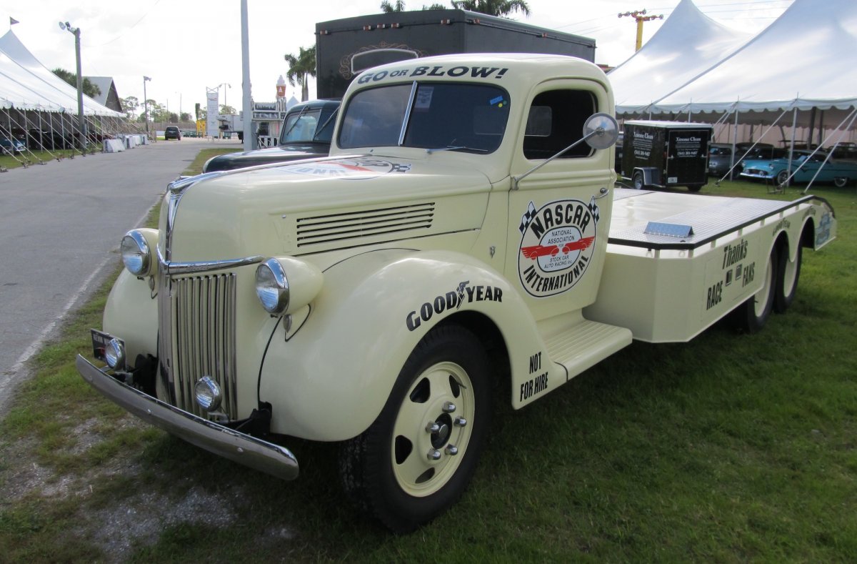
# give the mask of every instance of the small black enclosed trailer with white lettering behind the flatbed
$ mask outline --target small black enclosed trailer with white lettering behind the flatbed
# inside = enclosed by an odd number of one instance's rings
[[[621,177],[636,189],[686,186],[698,192],[708,183],[711,135],[708,123],[625,122]]]

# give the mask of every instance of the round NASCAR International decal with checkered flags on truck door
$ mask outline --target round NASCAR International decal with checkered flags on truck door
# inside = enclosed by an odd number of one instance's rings
[[[518,275],[532,297],[570,290],[583,278],[595,251],[598,206],[557,200],[539,209],[530,201],[521,217]]]

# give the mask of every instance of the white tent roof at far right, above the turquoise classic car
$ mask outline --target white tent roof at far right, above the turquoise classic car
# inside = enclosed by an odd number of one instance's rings
[[[769,27],[653,112],[770,111],[857,107],[857,2],[794,0]],[[830,113],[844,117],[842,111]],[[751,116],[742,115],[746,122]],[[830,120],[832,121],[832,120]],[[828,123],[830,123],[830,121]]]

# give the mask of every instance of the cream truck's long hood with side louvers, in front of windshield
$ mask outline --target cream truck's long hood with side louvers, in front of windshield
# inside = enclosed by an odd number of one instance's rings
[[[434,161],[339,156],[202,178],[171,189],[172,261],[303,255],[482,226],[491,184]],[[162,237],[161,244],[165,243]]]

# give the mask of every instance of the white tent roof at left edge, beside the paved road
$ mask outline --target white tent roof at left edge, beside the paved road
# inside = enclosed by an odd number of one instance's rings
[[[0,107],[77,113],[77,89],[39,63],[12,30],[0,38]],[[84,95],[87,116],[124,117]]]

